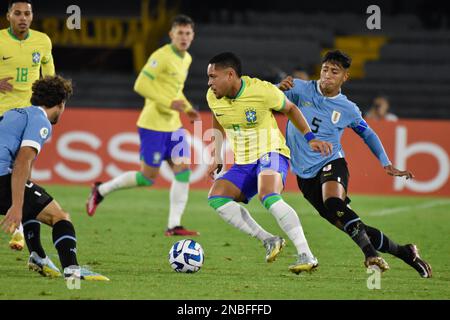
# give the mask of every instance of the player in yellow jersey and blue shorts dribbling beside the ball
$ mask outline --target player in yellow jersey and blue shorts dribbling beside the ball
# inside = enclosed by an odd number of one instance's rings
[[[215,132],[214,163],[209,174],[219,173],[222,141],[226,134],[232,143],[235,164],[217,178],[208,203],[228,223],[261,240],[266,261],[276,259],[285,240],[264,230],[238,202],[248,203],[258,194],[266,209],[294,243],[298,260],[289,267],[294,273],[318,266],[295,210],[281,197],[289,168],[290,151],[278,129],[273,111],[279,111],[302,132],[310,147],[322,154],[331,144],[315,139],[299,109],[269,82],[242,76],[241,62],[233,53],[212,58],[208,65],[208,105],[213,113]],[[219,133],[220,132],[220,133]]]

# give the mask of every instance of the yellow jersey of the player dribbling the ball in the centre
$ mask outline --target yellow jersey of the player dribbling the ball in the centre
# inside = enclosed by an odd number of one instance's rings
[[[286,98],[273,84],[257,78],[241,77],[242,85],[233,99],[217,99],[211,89],[206,99],[230,140],[235,163],[249,164],[267,152],[290,157],[273,110],[284,108]]]

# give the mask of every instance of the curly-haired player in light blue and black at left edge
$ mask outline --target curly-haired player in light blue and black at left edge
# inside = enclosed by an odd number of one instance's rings
[[[53,229],[53,244],[58,251],[64,277],[84,280],[109,280],[87,268],[79,267],[75,229],[70,217],[40,186],[29,180],[32,163],[52,134],[72,94],[72,83],[59,76],[37,80],[27,108],[12,109],[0,117],[0,222],[5,232],[13,232],[23,223],[30,250],[28,266],[46,277],[61,272],[45,254],[41,245],[40,224]]]

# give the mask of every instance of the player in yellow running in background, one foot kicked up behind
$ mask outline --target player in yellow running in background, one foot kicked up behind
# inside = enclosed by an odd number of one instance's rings
[[[145,98],[145,106],[137,126],[141,140],[141,170],[129,171],[105,182],[94,183],[86,204],[90,216],[109,193],[135,186],[151,186],[166,160],[175,176],[170,189],[170,211],[167,236],[198,235],[181,226],[189,192],[190,147],[180,121],[180,112],[191,121],[199,120],[198,112],[183,94],[189,66],[187,52],[194,39],[194,22],[185,15],[175,17],[170,30],[171,43],[156,50],[148,59],[134,85]]]

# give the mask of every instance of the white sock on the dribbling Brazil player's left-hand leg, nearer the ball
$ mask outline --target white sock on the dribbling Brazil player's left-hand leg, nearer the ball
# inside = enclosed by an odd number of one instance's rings
[[[261,241],[274,235],[264,230],[250,215],[248,210],[235,201],[230,201],[216,209],[219,215],[239,230]]]

